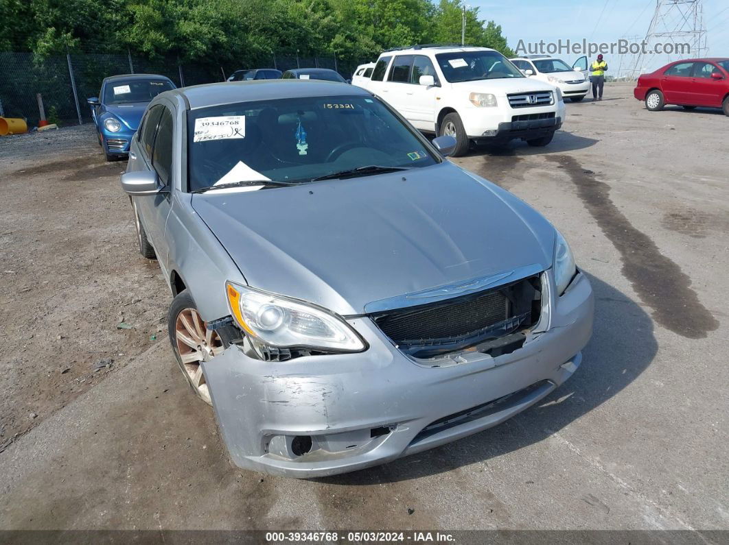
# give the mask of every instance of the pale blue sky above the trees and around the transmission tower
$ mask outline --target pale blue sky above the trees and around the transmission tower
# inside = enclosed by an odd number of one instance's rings
[[[520,39],[525,42],[588,39],[610,43],[628,36],[640,36],[640,41],[650,24],[656,0],[519,0],[518,9],[515,9],[513,1],[466,0],[466,4],[478,7],[481,19],[494,20],[502,25],[502,33],[514,49]],[[703,19],[707,29],[708,56],[729,57],[729,2],[703,0]],[[578,55],[558,56],[571,63]],[[697,55],[692,53],[690,56]],[[620,58],[617,55],[612,57],[612,67],[617,68]],[[649,55],[639,64],[643,71],[652,71],[680,57],[687,55],[679,55],[675,59],[666,55]],[[634,57],[624,57],[622,67],[630,65],[631,59]]]

